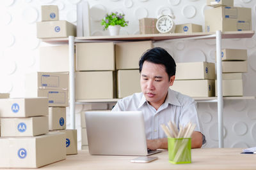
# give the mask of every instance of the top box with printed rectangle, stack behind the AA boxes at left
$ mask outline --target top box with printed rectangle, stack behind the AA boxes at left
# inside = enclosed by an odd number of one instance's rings
[[[26,92],[32,89],[68,89],[68,73],[28,73],[25,80]]]

